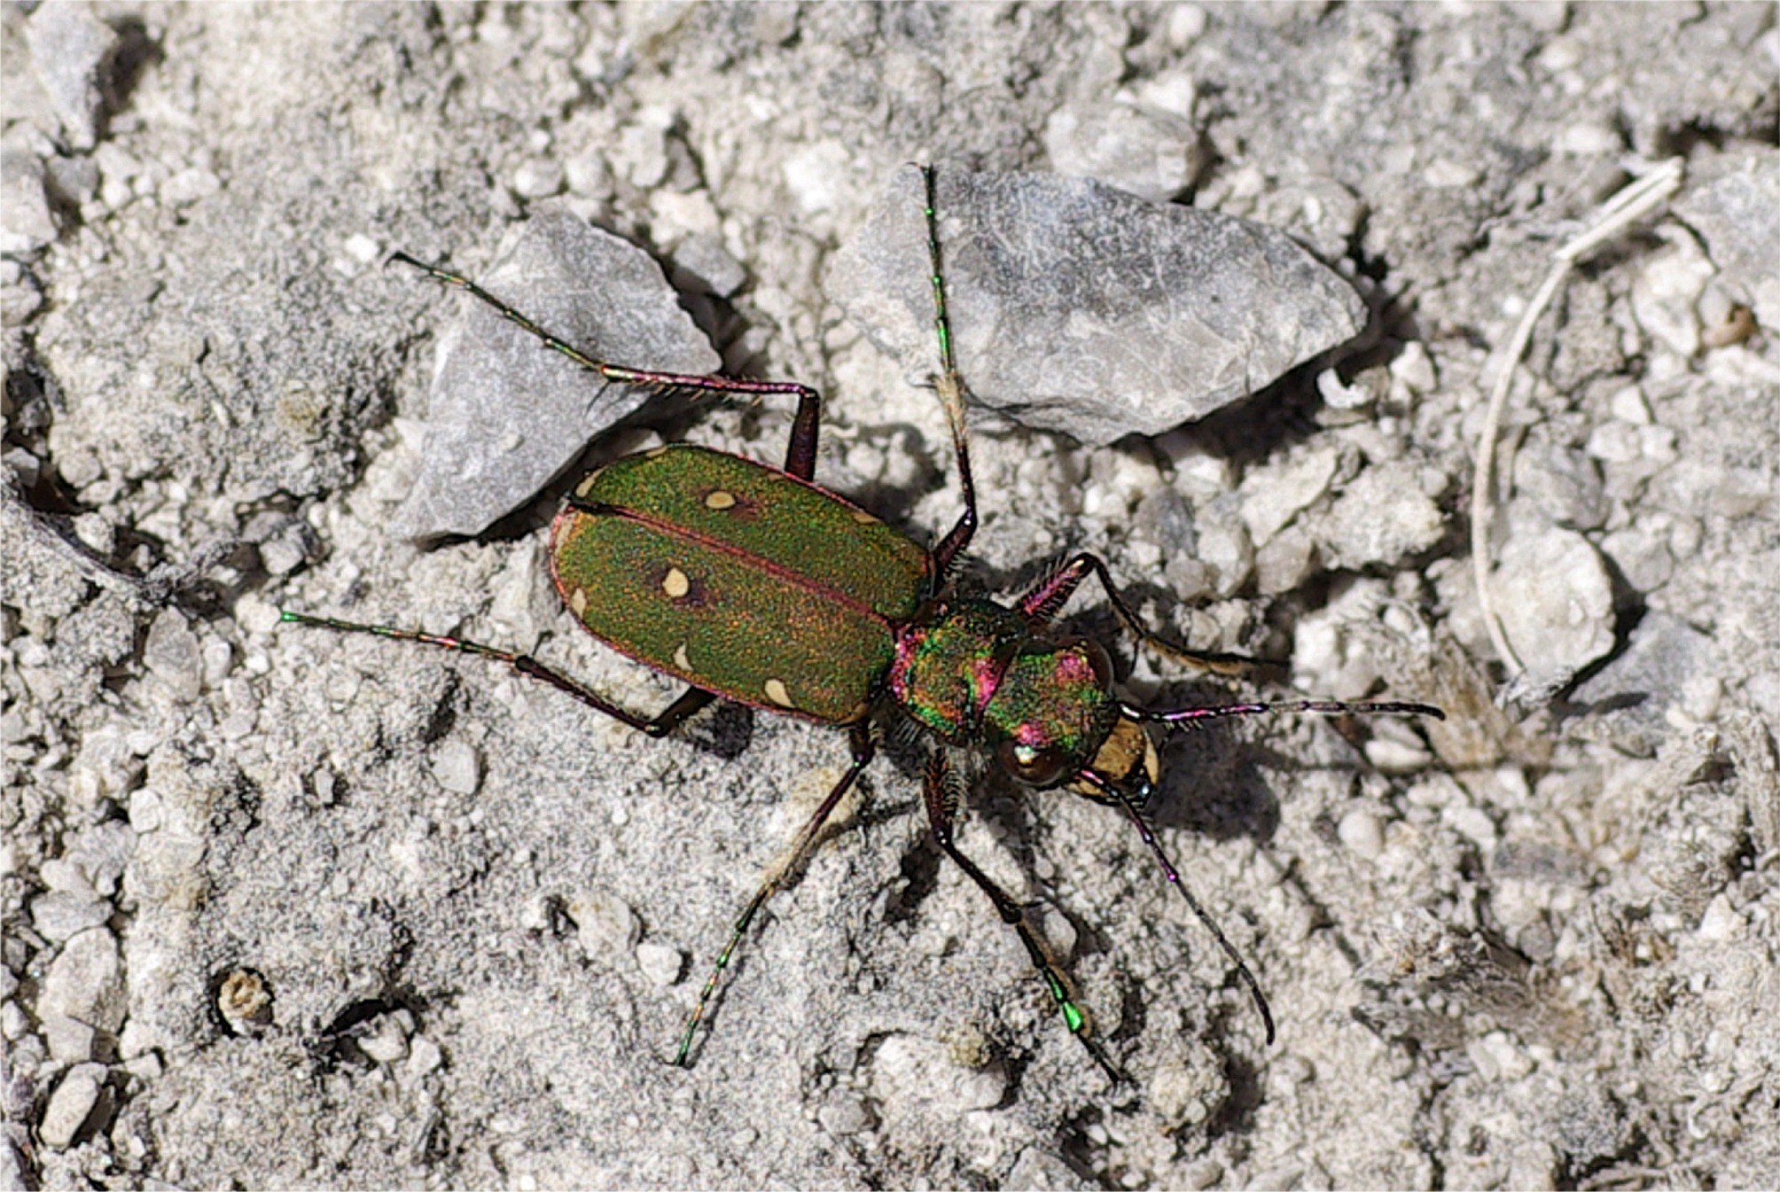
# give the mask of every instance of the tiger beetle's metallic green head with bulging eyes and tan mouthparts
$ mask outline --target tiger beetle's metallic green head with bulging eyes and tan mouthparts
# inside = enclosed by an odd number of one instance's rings
[[[1088,637],[1022,642],[983,710],[983,733],[1000,769],[1027,786],[1068,783],[1105,799],[1109,785],[1146,795],[1155,781],[1155,745],[1125,715],[1112,660]]]

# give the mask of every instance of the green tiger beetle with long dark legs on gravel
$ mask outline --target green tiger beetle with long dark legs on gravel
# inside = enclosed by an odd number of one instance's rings
[[[1146,817],[1157,781],[1157,749],[1146,726],[1164,731],[1226,717],[1287,713],[1399,713],[1444,719],[1419,703],[1296,699],[1210,708],[1152,710],[1118,697],[1107,649],[1052,628],[1075,589],[1100,582],[1120,623],[1145,646],[1177,662],[1230,673],[1226,655],[1202,655],[1145,628],[1120,596],[1105,562],[1079,553],[1013,607],[961,594],[952,569],[977,528],[977,498],[965,436],[965,381],[940,270],[933,167],[926,185],[927,254],[938,374],[933,388],[951,423],[965,509],[927,550],[858,505],[819,487],[815,443],[822,402],[790,381],[744,381],[623,368],[550,334],[479,285],[397,253],[392,262],[466,290],[539,343],[598,374],[603,383],[710,395],[797,399],[785,466],[687,443],[619,459],[575,486],[550,530],[550,571],[575,619],[596,639],[687,689],[653,717],[628,712],[536,658],[383,624],[283,612],[283,621],[376,633],[493,658],[548,683],[596,712],[666,737],[714,699],[846,728],[853,761],[797,833],[789,861],[749,898],[717,954],[680,1035],[673,1062],[685,1066],[700,1021],[755,914],[808,852],[822,824],[878,753],[878,735],[910,721],[933,740],[922,799],[934,843],[977,884],[1025,945],[1070,1032],[1114,1080],[1120,1069],[1093,1037],[1088,1014],[1025,909],[952,838],[967,786],[983,776],[983,754],[1031,788],[1064,786],[1121,811],[1218,946],[1235,964],[1267,1030],[1273,1012],[1260,984],[1218,923],[1180,881]],[[1239,664],[1235,664],[1239,665]]]

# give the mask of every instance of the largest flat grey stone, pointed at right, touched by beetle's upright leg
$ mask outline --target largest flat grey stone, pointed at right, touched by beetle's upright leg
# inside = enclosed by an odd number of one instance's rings
[[[1365,304],[1283,231],[1086,178],[938,171],[958,368],[1082,443],[1161,434],[1351,338]],[[828,294],[911,383],[938,366],[920,173],[897,173]]]

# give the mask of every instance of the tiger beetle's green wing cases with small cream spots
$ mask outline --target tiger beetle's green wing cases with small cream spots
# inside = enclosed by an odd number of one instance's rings
[[[854,512],[682,443],[580,486],[552,528],[550,569],[614,649],[724,699],[847,724],[927,589],[927,552]]]

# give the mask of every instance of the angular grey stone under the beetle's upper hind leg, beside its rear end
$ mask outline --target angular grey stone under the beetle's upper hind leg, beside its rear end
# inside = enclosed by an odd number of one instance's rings
[[[534,215],[479,281],[607,363],[678,374],[721,365],[655,260],[570,212]],[[650,399],[602,384],[486,302],[463,301],[463,318],[440,340],[420,475],[393,523],[402,537],[481,534]]]

